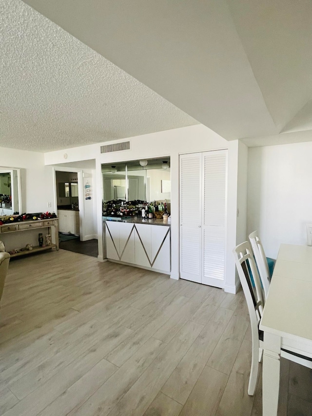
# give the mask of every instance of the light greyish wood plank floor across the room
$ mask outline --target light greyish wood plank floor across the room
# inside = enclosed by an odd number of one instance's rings
[[[242,292],[63,250],[10,262],[0,415],[261,415],[250,361]],[[279,416],[311,416],[311,386],[282,360]]]

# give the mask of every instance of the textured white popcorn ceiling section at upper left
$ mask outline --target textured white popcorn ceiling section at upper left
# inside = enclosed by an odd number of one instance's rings
[[[47,152],[198,122],[20,0],[0,0],[0,146]]]

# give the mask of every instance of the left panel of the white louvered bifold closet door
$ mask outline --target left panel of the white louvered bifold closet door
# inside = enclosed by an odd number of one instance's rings
[[[202,154],[180,156],[180,277],[201,282]]]

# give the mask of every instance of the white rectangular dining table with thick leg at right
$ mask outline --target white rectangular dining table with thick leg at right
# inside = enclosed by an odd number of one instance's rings
[[[312,358],[312,247],[281,244],[259,328],[263,415],[276,416],[281,349]]]

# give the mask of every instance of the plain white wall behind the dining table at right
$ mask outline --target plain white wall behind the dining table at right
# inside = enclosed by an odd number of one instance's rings
[[[281,243],[306,244],[312,222],[312,142],[249,149],[248,233],[258,230],[266,255]]]

